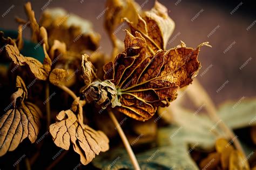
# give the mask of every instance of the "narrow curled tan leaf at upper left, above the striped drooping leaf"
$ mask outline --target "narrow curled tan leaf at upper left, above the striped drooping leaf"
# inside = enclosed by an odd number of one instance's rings
[[[45,44],[43,44],[44,49],[44,64],[40,63],[37,59],[32,57],[24,57],[21,53],[19,53],[19,50],[15,45],[6,45],[5,47],[8,57],[11,58],[12,62],[14,64],[20,65],[20,66],[28,66],[29,70],[39,80],[46,80],[49,76],[49,73],[51,71],[51,59],[48,56],[48,53],[46,52]]]

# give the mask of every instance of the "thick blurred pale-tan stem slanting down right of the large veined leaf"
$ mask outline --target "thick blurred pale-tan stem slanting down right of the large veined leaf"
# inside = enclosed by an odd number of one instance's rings
[[[206,90],[203,86],[200,85],[199,81],[197,79],[193,80],[194,89],[189,91],[189,96],[191,97],[191,100],[198,104],[199,103],[205,103],[206,104],[206,111],[211,119],[213,119],[216,123],[219,124],[220,128],[226,133],[228,138],[231,138],[234,141],[235,147],[241,151],[243,154],[245,154],[244,150],[242,149],[242,146],[239,142],[239,140],[235,137],[233,131],[222,121],[217,114],[217,109],[210,98],[210,96],[207,94]],[[201,96],[201,101],[195,100],[196,97],[198,99],[198,94]]]

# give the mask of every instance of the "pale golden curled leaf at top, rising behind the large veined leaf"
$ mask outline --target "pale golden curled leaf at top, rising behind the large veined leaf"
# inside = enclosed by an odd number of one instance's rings
[[[129,24],[133,36],[140,32],[146,39],[147,56],[155,55],[158,50],[165,50],[175,27],[173,20],[168,16],[167,8],[156,1],[150,11],[145,11],[142,17],[136,18],[136,22],[127,18],[125,21]]]

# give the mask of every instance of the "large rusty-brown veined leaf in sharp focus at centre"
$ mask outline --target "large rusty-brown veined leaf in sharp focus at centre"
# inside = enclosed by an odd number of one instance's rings
[[[169,106],[176,99],[176,91],[190,84],[201,67],[197,49],[175,47],[146,56],[146,41],[139,32],[136,36],[126,30],[125,51],[114,62],[104,66],[104,79],[116,86],[122,106],[117,110],[131,118],[150,119],[158,106]],[[208,45],[209,46],[209,45]]]

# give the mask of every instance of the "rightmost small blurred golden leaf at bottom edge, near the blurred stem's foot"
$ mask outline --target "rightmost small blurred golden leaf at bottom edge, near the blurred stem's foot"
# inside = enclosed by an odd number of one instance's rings
[[[247,158],[245,155],[242,154],[240,151],[234,150],[231,152],[230,155],[230,162],[229,162],[228,169],[238,169],[238,170],[248,170],[250,166],[248,164]]]

